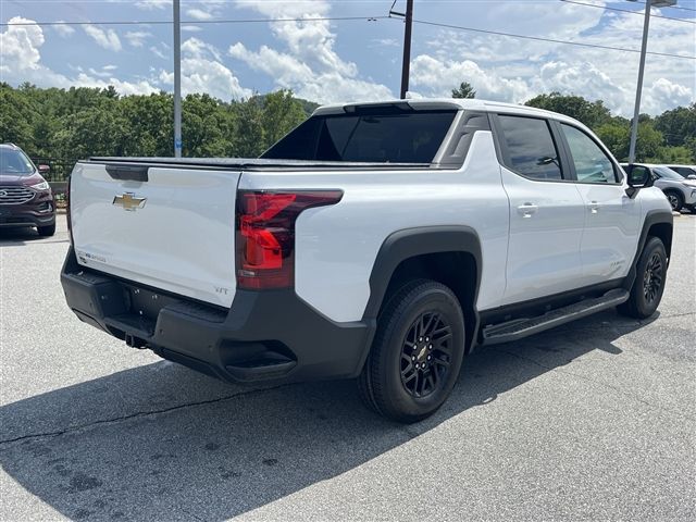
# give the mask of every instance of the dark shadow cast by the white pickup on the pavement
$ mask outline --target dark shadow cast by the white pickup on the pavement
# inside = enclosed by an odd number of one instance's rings
[[[353,382],[239,388],[158,362],[0,408],[0,463],[74,520],[224,520],[348,472],[592,350],[621,356],[613,341],[643,324],[612,312],[482,349],[443,409],[410,426],[365,410]],[[215,393],[172,405],[201,383]],[[114,414],[109,405],[124,393],[133,403]],[[158,414],[148,413],[153,394]]]

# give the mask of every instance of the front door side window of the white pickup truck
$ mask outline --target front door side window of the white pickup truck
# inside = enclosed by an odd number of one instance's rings
[[[561,124],[575,164],[575,175],[580,183],[616,183],[613,164],[604,150],[585,133],[570,125]]]

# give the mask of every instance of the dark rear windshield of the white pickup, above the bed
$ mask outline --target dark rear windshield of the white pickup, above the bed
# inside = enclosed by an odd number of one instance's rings
[[[314,116],[264,159],[431,163],[457,111]]]

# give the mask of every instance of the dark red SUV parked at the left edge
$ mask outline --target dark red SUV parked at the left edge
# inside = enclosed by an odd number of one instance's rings
[[[39,236],[55,234],[53,194],[32,160],[12,144],[0,145],[0,227],[35,226]]]

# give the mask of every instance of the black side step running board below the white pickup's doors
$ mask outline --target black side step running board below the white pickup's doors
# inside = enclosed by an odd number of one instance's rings
[[[564,323],[575,321],[595,312],[606,310],[625,302],[629,291],[617,288],[601,297],[585,299],[584,301],[558,308],[531,319],[515,319],[506,323],[493,324],[483,330],[483,345],[498,345],[518,340],[527,335],[537,334],[545,330],[554,328]]]

